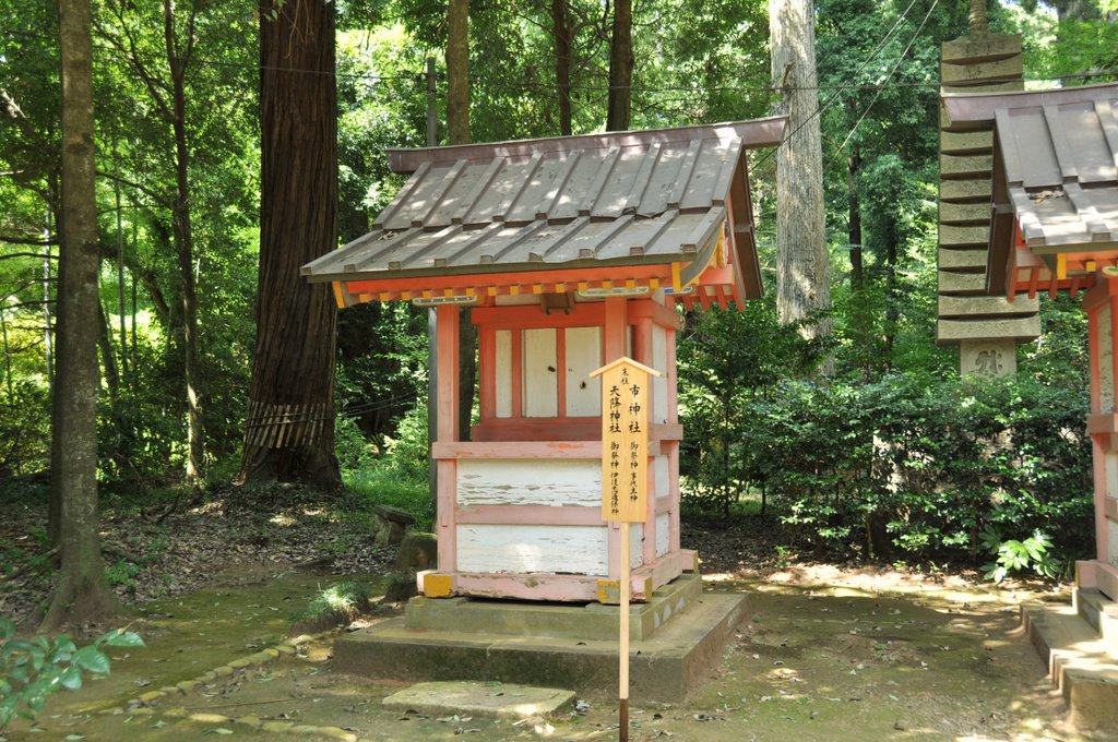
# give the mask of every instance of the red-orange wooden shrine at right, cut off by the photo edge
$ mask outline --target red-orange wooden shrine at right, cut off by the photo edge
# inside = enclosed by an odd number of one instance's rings
[[[1096,556],[1077,588],[1118,600],[1118,85],[945,96],[954,131],[994,122],[986,291],[1083,294]]]

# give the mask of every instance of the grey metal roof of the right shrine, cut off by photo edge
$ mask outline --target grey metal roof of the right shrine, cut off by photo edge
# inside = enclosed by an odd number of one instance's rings
[[[944,105],[951,130],[995,127],[989,293],[1004,289],[1018,245],[1053,275],[1071,255],[1118,249],[1118,85],[945,95]]]

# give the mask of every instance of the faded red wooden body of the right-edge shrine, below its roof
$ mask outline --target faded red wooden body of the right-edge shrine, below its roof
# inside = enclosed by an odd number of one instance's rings
[[[1087,310],[1091,411],[1087,429],[1095,457],[1095,544],[1093,560],[1076,565],[1076,586],[1098,588],[1118,599],[1118,401],[1115,379],[1115,329],[1118,325],[1118,277],[1100,276],[1083,298]]]

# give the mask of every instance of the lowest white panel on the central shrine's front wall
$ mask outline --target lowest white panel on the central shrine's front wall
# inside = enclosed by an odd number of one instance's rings
[[[457,526],[463,572],[607,574],[606,527],[597,525]]]

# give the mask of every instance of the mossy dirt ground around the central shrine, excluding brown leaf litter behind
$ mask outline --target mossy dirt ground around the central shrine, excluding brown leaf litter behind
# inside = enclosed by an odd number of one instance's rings
[[[581,698],[558,717],[520,723],[386,711],[381,700],[401,686],[334,673],[329,637],[136,707],[144,693],[275,646],[292,613],[334,579],[240,567],[205,590],[145,603],[132,628],[146,648],[114,653],[111,675],[56,694],[34,726],[20,722],[6,735],[617,739],[616,701],[608,692]],[[1021,601],[1064,599],[1059,591],[807,564],[748,580],[708,574],[707,581],[711,590],[749,592],[747,620],[693,697],[671,705],[632,700],[632,740],[1118,739],[1067,726],[1063,702],[1018,627]],[[499,684],[493,688],[501,693]]]

